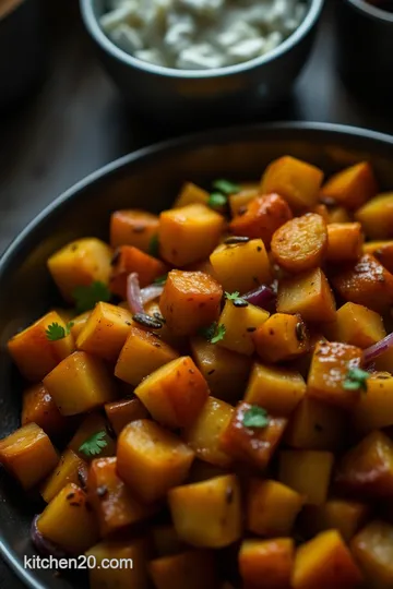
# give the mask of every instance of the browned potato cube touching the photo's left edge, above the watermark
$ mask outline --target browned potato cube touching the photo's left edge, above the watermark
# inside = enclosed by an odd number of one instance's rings
[[[24,489],[43,480],[58,461],[52,443],[36,423],[23,425],[0,441],[0,462]]]

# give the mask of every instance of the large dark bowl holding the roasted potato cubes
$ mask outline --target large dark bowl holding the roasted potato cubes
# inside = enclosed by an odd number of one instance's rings
[[[10,245],[0,261],[0,435],[19,426],[21,382],[7,353],[8,338],[19,327],[56,304],[46,269],[47,257],[72,239],[108,237],[110,213],[121,207],[158,212],[171,204],[183,180],[257,179],[284,154],[303,158],[327,173],[359,159],[374,167],[381,189],[393,187],[393,137],[333,124],[283,123],[212,131],[147,147],[93,173],[49,205]],[[29,525],[39,507],[19,492],[0,469],[0,551],[15,573],[34,589],[86,587],[28,570],[34,554]]]

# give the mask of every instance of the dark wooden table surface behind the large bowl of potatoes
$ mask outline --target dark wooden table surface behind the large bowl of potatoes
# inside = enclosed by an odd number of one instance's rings
[[[293,96],[270,120],[331,121],[393,133],[393,113],[361,104],[336,75],[331,2]],[[46,81],[22,110],[0,119],[0,252],[74,182],[168,135],[159,125],[141,128],[133,120],[96,60],[75,0],[56,0],[47,16],[51,34]],[[21,589],[1,564],[0,587]]]

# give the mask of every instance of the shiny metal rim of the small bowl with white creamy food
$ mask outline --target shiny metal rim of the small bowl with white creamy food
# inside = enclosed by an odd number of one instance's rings
[[[114,59],[121,61],[124,65],[130,65],[136,70],[141,70],[145,73],[159,75],[163,77],[176,77],[186,80],[205,80],[211,77],[224,77],[231,74],[243,73],[249,70],[254,70],[265,63],[270,63],[274,59],[289,51],[295,45],[297,45],[319,21],[325,0],[309,0],[309,9],[300,25],[281,43],[275,49],[269,51],[264,56],[250,59],[242,63],[235,65],[227,65],[225,68],[213,68],[211,70],[179,70],[175,68],[165,68],[163,65],[156,65],[148,61],[138,59],[112,43],[109,37],[103,32],[99,26],[93,11],[93,0],[80,0],[80,10],[82,20],[85,27],[97,45]]]

